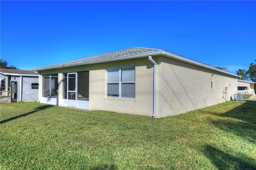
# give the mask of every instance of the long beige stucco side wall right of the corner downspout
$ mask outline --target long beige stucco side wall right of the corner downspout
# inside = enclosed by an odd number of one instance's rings
[[[157,117],[177,115],[222,103],[225,101],[225,87],[229,87],[228,100],[236,91],[235,77],[166,57],[161,57],[159,72]]]

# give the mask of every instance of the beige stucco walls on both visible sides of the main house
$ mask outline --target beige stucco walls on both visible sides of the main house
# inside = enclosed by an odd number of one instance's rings
[[[157,62],[157,117],[177,115],[230,100],[236,91],[236,78],[198,66],[155,56]],[[106,97],[106,69],[135,67],[135,99]],[[62,105],[63,75],[89,71],[89,109],[151,116],[153,113],[153,64],[148,58],[63,67],[41,71],[59,73],[59,105]],[[211,81],[213,75],[213,89]],[[41,76],[42,82],[42,76]],[[230,86],[229,86],[230,84]],[[42,89],[41,89],[42,95]]]

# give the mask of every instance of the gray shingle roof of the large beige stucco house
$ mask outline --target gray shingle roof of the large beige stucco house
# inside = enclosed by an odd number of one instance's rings
[[[47,66],[39,67],[39,68],[36,68],[36,69],[33,69],[33,70],[37,70],[37,69],[41,70],[41,69],[47,69],[47,68],[50,69],[51,67],[58,67],[58,66],[63,66],[63,65],[68,65],[68,64],[76,64],[76,63],[95,62],[95,61],[101,61],[101,60],[108,60],[108,59],[111,59],[111,58],[121,58],[121,57],[124,57],[124,56],[143,54],[143,53],[149,53],[149,52],[156,52],[156,51],[159,51],[159,50],[161,50],[161,49],[133,47],[133,48],[118,50],[116,52],[85,57],[85,58],[81,58],[81,59],[78,59],[78,60],[73,60],[73,61],[69,61],[69,62],[65,62],[65,63],[47,65]]]

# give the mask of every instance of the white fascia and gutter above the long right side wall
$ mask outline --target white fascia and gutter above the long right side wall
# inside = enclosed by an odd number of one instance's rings
[[[227,72],[227,71],[223,71],[223,70],[217,69],[213,66],[203,64],[203,63],[191,60],[189,58],[182,57],[182,56],[177,55],[177,54],[166,52],[164,50],[163,50],[163,55],[166,56],[166,57],[169,57],[169,58],[173,58],[174,60],[179,60],[179,61],[182,61],[182,62],[185,62],[185,63],[197,65],[199,67],[204,67],[205,69],[214,70],[214,71],[217,71],[217,72],[220,72],[220,73],[223,73],[223,74],[228,74],[228,75],[232,75],[232,76],[237,77],[237,78],[241,78],[239,75],[236,75],[236,74],[233,74],[233,73],[230,73],[230,72]]]

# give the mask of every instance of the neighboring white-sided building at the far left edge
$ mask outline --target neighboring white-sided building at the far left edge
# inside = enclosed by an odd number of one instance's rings
[[[37,101],[38,74],[34,71],[0,69],[0,101]]]

